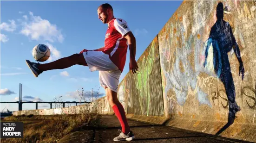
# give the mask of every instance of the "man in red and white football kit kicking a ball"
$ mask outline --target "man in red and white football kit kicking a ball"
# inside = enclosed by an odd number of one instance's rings
[[[138,64],[135,60],[136,39],[124,19],[114,18],[111,5],[107,3],[100,5],[97,12],[98,19],[103,24],[108,24],[104,47],[97,50],[84,49],[79,54],[73,54],[46,64],[30,62],[29,60],[26,60],[26,64],[36,77],[47,70],[68,68],[76,64],[88,66],[91,72],[98,70],[100,85],[105,88],[108,102],[122,127],[121,133],[114,138],[114,141],[131,141],[135,136],[130,131],[125,110],[118,101],[117,89],[119,77],[125,66],[127,44],[129,44],[130,49],[129,70],[133,74],[136,73],[136,70],[138,71]]]

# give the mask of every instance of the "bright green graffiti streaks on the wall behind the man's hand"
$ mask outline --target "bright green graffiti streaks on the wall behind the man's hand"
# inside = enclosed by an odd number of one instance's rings
[[[142,115],[144,115],[144,106],[142,105],[143,102],[146,101],[146,112],[147,116],[149,115],[149,102],[150,102],[150,90],[149,90],[149,75],[152,71],[153,61],[155,59],[154,55],[155,50],[155,43],[154,41],[151,44],[151,49],[145,60],[145,56],[143,57],[142,61],[138,63],[138,67],[140,68],[138,73],[135,76],[135,83],[136,88],[139,91],[139,104],[141,108]]]

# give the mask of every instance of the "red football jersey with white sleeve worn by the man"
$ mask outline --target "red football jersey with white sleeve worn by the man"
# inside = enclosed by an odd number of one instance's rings
[[[124,19],[114,18],[110,21],[105,35],[104,53],[123,72],[125,67],[128,41],[123,37],[131,31]]]

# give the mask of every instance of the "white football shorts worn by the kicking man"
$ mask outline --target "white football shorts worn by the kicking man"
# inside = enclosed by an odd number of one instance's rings
[[[91,72],[99,71],[100,86],[117,92],[121,71],[102,51],[83,52],[85,61]]]

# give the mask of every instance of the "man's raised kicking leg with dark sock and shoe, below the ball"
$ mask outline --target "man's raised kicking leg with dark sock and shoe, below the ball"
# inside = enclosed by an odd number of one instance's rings
[[[38,77],[38,75],[40,75],[42,72],[46,70],[64,69],[64,68],[69,68],[76,64],[88,66],[85,61],[83,53],[73,54],[71,56],[67,56],[59,60],[49,62],[49,63],[44,63],[44,64],[39,64],[36,62],[30,62],[29,60],[26,60],[26,64],[31,69],[35,77]]]

